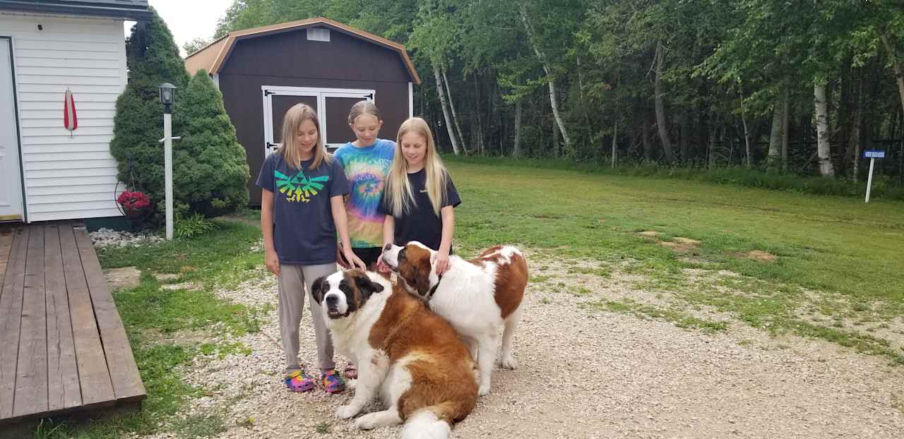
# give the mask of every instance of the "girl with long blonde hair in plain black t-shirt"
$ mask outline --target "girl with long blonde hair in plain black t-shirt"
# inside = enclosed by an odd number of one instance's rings
[[[458,191],[433,145],[427,121],[411,117],[401,124],[396,152],[387,178],[380,210],[383,245],[405,245],[416,240],[438,251],[437,274],[448,269],[455,232]],[[381,264],[381,270],[386,268]]]

